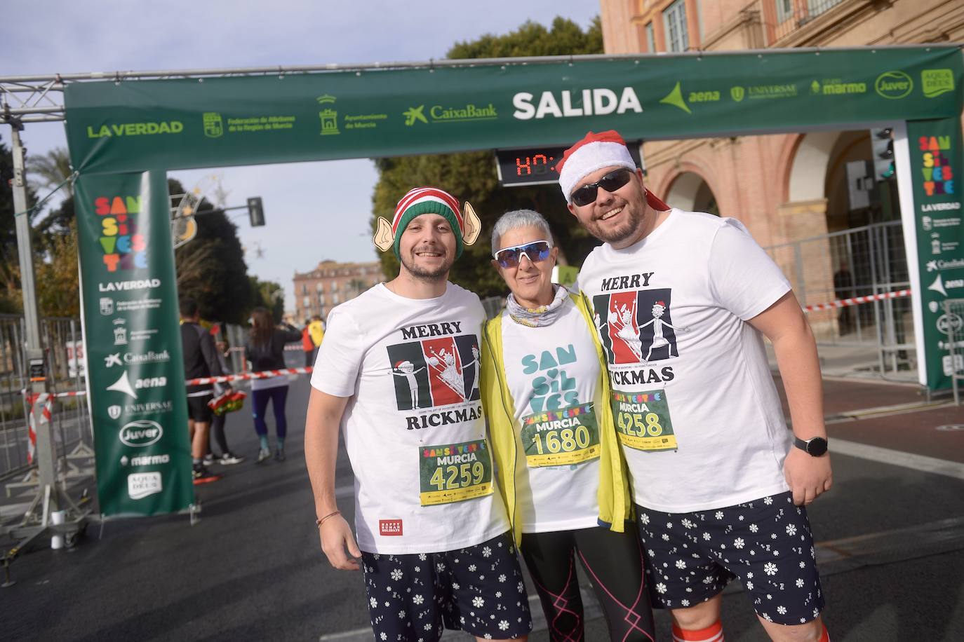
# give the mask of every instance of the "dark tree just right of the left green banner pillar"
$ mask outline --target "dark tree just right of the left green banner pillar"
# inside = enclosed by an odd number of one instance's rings
[[[172,194],[184,193],[174,179],[168,181]],[[196,218],[198,235],[174,250],[177,292],[190,296],[201,307],[201,318],[209,321],[243,323],[252,307],[252,289],[237,226],[224,212],[201,200]]]

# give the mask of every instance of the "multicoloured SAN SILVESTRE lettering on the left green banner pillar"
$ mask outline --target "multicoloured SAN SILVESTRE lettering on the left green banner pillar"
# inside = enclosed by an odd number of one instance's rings
[[[138,233],[136,216],[143,199],[138,196],[97,196],[94,214],[100,223],[97,242],[109,272],[147,268],[147,241]]]

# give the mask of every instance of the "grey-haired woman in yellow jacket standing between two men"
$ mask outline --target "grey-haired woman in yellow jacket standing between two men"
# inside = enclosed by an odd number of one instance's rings
[[[482,402],[498,488],[549,637],[584,639],[577,554],[610,638],[652,641],[626,463],[588,304],[552,284],[558,249],[542,215],[509,212],[492,236],[493,266],[511,294],[485,327]]]

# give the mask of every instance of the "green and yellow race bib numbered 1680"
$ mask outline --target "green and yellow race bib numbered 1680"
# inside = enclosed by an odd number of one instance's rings
[[[521,437],[529,468],[579,464],[600,456],[592,403],[522,417]]]

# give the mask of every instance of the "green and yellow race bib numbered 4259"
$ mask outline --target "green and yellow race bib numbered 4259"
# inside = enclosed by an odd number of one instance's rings
[[[492,455],[486,440],[418,449],[423,506],[492,495]]]

